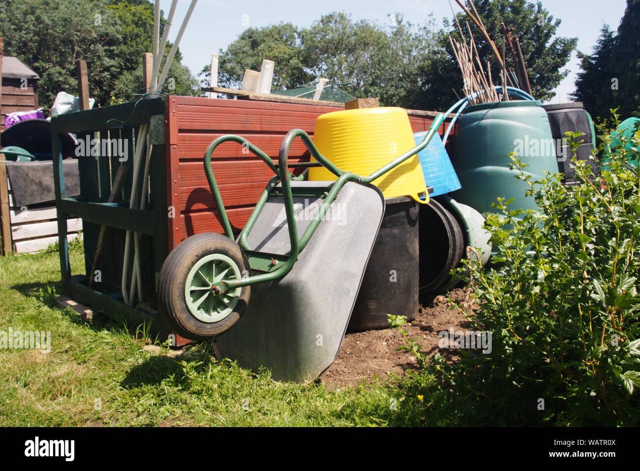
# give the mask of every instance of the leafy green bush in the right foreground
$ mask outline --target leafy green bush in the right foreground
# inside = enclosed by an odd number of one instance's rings
[[[640,133],[632,140],[640,147]],[[501,214],[486,218],[498,255],[488,269],[465,261],[459,270],[479,306],[472,328],[492,333],[490,352],[461,349],[449,363],[408,342],[423,366],[402,383],[404,408],[458,425],[640,422],[640,169],[628,154],[614,149],[598,178],[573,159],[577,186],[559,174],[532,182],[511,156],[540,212],[499,200]]]

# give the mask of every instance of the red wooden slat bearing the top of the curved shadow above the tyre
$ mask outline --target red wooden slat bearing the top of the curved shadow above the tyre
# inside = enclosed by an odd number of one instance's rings
[[[204,173],[204,172],[203,172]],[[267,182],[218,185],[225,208],[232,206],[255,206]],[[212,209],[215,207],[211,190],[207,186],[180,188],[180,212]]]

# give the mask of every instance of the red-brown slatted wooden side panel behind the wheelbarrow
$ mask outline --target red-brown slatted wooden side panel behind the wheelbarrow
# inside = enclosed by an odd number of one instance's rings
[[[170,204],[179,208],[179,224],[170,222],[170,245],[201,232],[223,233],[209,191],[202,158],[212,140],[225,134],[246,137],[277,163],[284,135],[294,128],[313,135],[319,115],[342,108],[250,100],[169,97],[166,124]],[[426,131],[431,113],[411,113],[413,132]],[[444,134],[445,127],[438,129]],[[289,151],[290,161],[308,160],[299,139]],[[239,231],[255,206],[273,172],[253,154],[243,154],[236,143],[222,144],[212,156],[212,169],[234,231]],[[177,229],[177,230],[176,230]],[[170,247],[170,248],[172,248]]]

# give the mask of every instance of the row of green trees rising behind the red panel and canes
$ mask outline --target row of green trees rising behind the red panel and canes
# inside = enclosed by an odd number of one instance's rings
[[[562,68],[577,38],[556,37],[560,20],[540,3],[478,0],[476,6],[500,50],[502,21],[520,35],[534,96],[553,97],[552,90],[568,73]],[[463,14],[458,18],[465,24]],[[493,59],[475,25],[471,31],[483,62]],[[275,89],[305,87],[325,77],[355,97],[380,97],[385,106],[444,110],[458,101],[452,89],[460,93],[462,87],[450,34],[459,37],[454,21],[445,21],[438,29],[433,17],[412,24],[399,13],[390,15],[385,25],[333,12],[310,28],[291,23],[249,28],[220,51],[218,83],[239,87],[244,69],[259,70],[262,59],[269,58],[276,63]],[[513,67],[507,56],[508,67]],[[204,84],[209,83],[209,69],[207,65],[200,72]],[[498,76],[494,69],[493,77]]]

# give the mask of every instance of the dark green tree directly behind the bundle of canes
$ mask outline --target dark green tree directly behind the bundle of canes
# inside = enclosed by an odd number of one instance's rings
[[[477,12],[483,20],[490,38],[502,53],[504,37],[502,22],[511,28],[511,35],[520,38],[520,46],[529,74],[532,95],[536,99],[548,100],[555,93],[552,91],[559,85],[568,70],[561,70],[570,60],[577,38],[554,37],[561,21],[554,19],[540,2],[530,3],[526,0],[476,0]],[[464,13],[458,13],[458,21],[468,36],[467,22],[476,41],[479,56],[486,67],[486,61],[492,63],[492,76],[497,84],[500,69],[493,59],[490,46],[484,40],[479,29]],[[457,98],[452,88],[460,93],[462,78],[460,69],[452,53],[448,36],[460,38],[455,21],[445,21],[444,29],[438,35],[440,50],[434,52],[433,60],[422,67],[423,83],[425,83],[422,107],[445,109]],[[506,67],[513,67],[509,49],[506,49]]]

